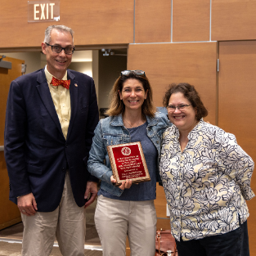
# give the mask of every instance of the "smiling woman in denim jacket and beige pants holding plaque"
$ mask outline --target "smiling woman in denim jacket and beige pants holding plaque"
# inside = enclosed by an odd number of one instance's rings
[[[161,136],[169,122],[155,113],[152,90],[141,70],[121,72],[110,92],[110,117],[101,119],[95,130],[88,171],[101,179],[95,223],[104,256],[125,255],[128,236],[131,255],[155,255],[155,189],[159,180]],[[150,182],[115,186],[106,146],[141,141]]]

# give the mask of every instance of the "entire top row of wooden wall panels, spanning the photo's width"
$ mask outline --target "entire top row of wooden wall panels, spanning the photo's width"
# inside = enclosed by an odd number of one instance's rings
[[[254,0],[61,0],[61,20],[43,23],[28,22],[25,0],[1,7],[0,50],[39,47],[53,24],[74,29],[76,46],[256,39]]]

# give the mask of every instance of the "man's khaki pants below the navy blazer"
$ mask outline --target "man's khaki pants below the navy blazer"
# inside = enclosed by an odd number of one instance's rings
[[[21,214],[24,224],[22,256],[48,256],[55,237],[64,256],[84,255],[84,208],[75,201],[67,172],[61,204],[53,212]]]

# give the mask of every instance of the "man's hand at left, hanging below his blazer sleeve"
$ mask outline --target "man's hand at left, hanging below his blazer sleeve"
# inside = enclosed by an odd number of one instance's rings
[[[21,195],[17,200],[20,213],[23,213],[27,216],[32,216],[38,210],[37,203],[32,193],[28,195]]]

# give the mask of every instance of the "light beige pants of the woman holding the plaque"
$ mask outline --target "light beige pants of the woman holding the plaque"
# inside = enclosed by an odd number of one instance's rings
[[[95,224],[103,256],[124,256],[128,236],[131,256],[155,255],[154,200],[122,201],[98,196]]]

